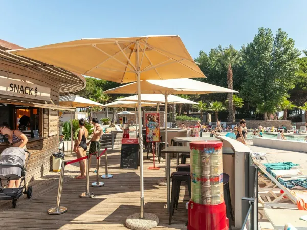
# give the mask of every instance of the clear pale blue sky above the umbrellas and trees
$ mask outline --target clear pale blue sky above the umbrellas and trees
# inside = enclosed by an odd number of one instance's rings
[[[221,44],[240,49],[258,27],[307,48],[306,0],[0,0],[0,39],[36,47],[80,38],[180,35],[193,58]]]

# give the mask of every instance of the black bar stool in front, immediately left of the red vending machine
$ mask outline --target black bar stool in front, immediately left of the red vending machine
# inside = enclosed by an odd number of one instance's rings
[[[171,174],[172,186],[171,186],[171,202],[170,202],[170,213],[169,222],[171,225],[172,216],[175,209],[178,206],[179,193],[181,181],[186,181],[188,183],[189,197],[191,198],[191,173],[190,172],[173,172]]]

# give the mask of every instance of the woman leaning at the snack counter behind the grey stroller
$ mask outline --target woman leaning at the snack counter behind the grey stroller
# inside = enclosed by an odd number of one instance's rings
[[[0,126],[0,134],[3,136],[7,136],[9,143],[11,143],[13,147],[26,149],[26,144],[28,143],[27,136],[19,130],[11,130],[7,122],[4,122]],[[25,152],[26,160],[28,159],[28,157],[28,153]],[[10,180],[8,188],[13,188],[14,185],[16,186],[16,188],[18,188],[20,183],[21,178],[19,180]]]

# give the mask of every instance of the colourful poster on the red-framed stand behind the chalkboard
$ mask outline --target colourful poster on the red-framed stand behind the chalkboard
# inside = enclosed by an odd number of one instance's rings
[[[146,114],[146,141],[159,142],[160,141],[160,122],[159,113]]]

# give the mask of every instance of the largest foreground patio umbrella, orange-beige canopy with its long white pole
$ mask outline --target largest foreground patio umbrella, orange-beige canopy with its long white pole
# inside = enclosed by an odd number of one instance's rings
[[[137,81],[139,117],[141,80],[205,77],[177,35],[82,39],[8,52],[95,78],[120,83]],[[141,119],[139,130],[142,130]],[[143,156],[142,135],[139,135],[139,143]],[[143,157],[140,160],[140,183],[140,218],[143,219]]]

